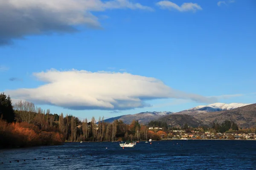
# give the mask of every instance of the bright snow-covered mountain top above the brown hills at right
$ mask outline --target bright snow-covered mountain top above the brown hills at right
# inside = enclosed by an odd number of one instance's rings
[[[201,105],[196,106],[195,108],[190,108],[185,111],[206,111],[206,112],[215,112],[215,111],[228,111],[231,109],[239,108],[242,106],[246,106],[250,104],[243,104],[243,103],[213,103],[210,105]]]

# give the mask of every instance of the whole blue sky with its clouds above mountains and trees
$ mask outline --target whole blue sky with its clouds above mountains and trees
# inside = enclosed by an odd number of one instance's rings
[[[52,14],[47,6],[37,13],[25,3],[32,1],[12,3],[0,17],[0,91],[14,99],[88,119],[181,111],[210,101],[255,103],[253,0],[80,0],[73,8],[49,3]],[[17,9],[31,20],[15,17]],[[69,94],[72,102],[63,97]],[[104,104],[92,102],[99,98]]]

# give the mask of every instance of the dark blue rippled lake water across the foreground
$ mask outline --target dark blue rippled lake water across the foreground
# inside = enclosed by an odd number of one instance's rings
[[[118,142],[77,142],[6,149],[0,150],[0,169],[255,170],[256,141],[173,140],[124,149]]]

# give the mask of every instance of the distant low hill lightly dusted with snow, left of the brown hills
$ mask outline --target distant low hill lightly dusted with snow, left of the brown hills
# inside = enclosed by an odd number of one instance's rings
[[[145,124],[147,122],[150,122],[151,120],[158,119],[161,116],[172,114],[173,112],[164,111],[164,112],[141,112],[137,114],[127,114],[117,117],[112,117],[109,119],[105,119],[104,122],[113,122],[114,120],[122,120],[126,124],[130,124],[132,120],[138,120],[140,124]]]

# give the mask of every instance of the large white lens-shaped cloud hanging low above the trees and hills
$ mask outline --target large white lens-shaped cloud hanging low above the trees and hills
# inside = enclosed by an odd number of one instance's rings
[[[119,72],[57,71],[34,73],[45,82],[38,88],[6,91],[13,99],[73,110],[127,110],[149,106],[145,101],[160,98],[191,99],[212,103],[215,98],[177,91],[158,79]]]

